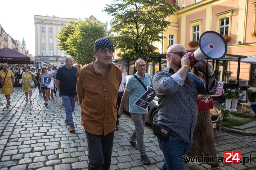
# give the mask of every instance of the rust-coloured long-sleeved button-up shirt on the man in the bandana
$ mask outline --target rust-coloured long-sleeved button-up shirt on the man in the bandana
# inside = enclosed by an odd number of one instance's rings
[[[76,92],[81,104],[83,127],[92,134],[106,135],[116,127],[116,100],[122,71],[111,63],[105,73],[95,72],[93,62],[77,72]]]

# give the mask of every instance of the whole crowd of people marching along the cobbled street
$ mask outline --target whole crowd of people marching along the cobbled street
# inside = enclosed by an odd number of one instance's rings
[[[208,102],[211,101],[209,96],[216,93],[218,86],[218,81],[214,79],[213,66],[204,60],[198,66],[204,72],[208,68],[207,80],[198,70],[189,72],[191,52],[187,52],[181,44],[174,44],[167,49],[167,66],[162,71],[156,72],[152,78],[146,73],[146,62],[138,59],[135,62],[136,74],[126,82],[119,65],[112,63],[113,52],[112,42],[100,38],[94,44],[95,59],[83,67],[74,66],[72,57],[67,57],[65,65],[58,69],[51,64],[44,64],[36,74],[29,66],[25,66],[22,73],[25,101],[28,101],[29,94],[29,101],[32,102],[33,87],[30,83],[32,77],[36,77],[39,95],[43,94],[45,106],[48,105],[50,98],[54,99],[53,94],[62,97],[65,123],[69,125],[70,132],[75,131],[72,113],[77,102],[81,107],[81,125],[85,129],[88,143],[88,169],[108,170],[111,165],[114,132],[118,130],[118,118],[123,114],[128,96],[129,112],[135,126],[130,136],[130,145],[139,151],[143,163],[151,162],[146,153],[143,137],[148,109],[134,105],[149,86],[159,99],[159,117],[155,126],[153,125],[153,131],[165,159],[161,170],[184,170],[182,158],[187,154],[201,156],[202,153],[206,153],[215,156],[209,112],[213,105],[212,102]],[[8,108],[13,92],[13,73],[8,71],[7,64],[2,64],[2,67],[1,94],[7,99]],[[200,119],[198,115],[202,115],[199,116]],[[218,163],[205,163],[210,164],[212,170],[221,170]]]

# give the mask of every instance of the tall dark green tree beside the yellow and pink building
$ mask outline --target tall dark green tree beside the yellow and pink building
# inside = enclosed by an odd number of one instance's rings
[[[115,0],[103,11],[113,17],[113,32],[118,33],[112,38],[115,48],[123,52],[122,58],[132,61],[157,53],[152,42],[164,38],[161,33],[170,24],[166,17],[176,9],[176,4],[166,0]]]

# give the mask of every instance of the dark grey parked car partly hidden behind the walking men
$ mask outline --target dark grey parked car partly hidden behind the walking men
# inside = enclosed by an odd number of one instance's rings
[[[125,78],[128,81],[128,79],[132,76],[133,75],[127,75],[127,76],[125,76]],[[158,107],[158,98],[155,97],[154,100],[150,103],[150,105],[148,107],[148,117],[146,120],[146,122],[149,123],[151,125],[151,127],[152,127],[153,123],[155,123],[157,121],[157,118],[158,118],[157,107]],[[124,110],[126,112],[129,112],[129,96],[124,104]],[[214,109],[211,109],[210,113],[211,113],[213,131],[217,132],[221,129],[223,116],[221,114],[221,111],[218,110],[216,107],[214,107]]]

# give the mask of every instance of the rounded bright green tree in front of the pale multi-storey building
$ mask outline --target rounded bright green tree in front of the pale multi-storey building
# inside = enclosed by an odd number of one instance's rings
[[[94,58],[94,42],[106,37],[104,24],[97,20],[71,21],[58,35],[60,49],[74,58],[76,63],[85,65]]]

